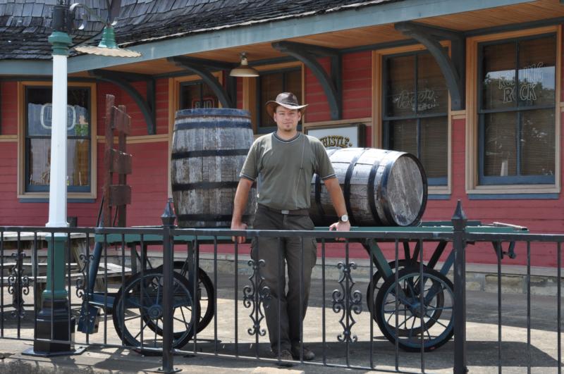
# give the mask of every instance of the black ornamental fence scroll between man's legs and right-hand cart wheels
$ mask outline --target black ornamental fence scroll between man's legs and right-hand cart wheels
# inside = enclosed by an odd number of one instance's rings
[[[353,292],[355,282],[350,275],[350,270],[357,268],[354,262],[345,264],[338,263],[337,268],[341,269],[341,277],[338,282],[341,285],[342,292],[335,289],[331,296],[333,297],[333,311],[335,313],[343,313],[339,323],[343,327],[343,333],[338,335],[339,342],[356,342],[357,336],[353,335],[352,329],[356,321],[353,313],[360,314],[362,311],[362,293],[358,290]]]

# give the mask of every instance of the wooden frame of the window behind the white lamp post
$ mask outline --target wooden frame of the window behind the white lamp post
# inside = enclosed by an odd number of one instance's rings
[[[90,99],[90,185],[87,187],[68,187],[68,199],[96,199],[97,197],[97,86],[95,82],[67,82],[68,87],[86,88]],[[18,82],[18,199],[45,199],[49,197],[49,187],[31,187],[25,177],[27,170],[27,91],[33,88],[52,87],[49,81]],[[50,137],[49,137],[50,138]],[[69,138],[72,139],[72,138]],[[28,188],[31,187],[31,188]]]

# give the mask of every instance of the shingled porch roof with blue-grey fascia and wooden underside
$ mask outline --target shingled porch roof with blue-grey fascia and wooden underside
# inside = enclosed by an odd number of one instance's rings
[[[39,20],[33,19],[33,6],[27,7],[28,12],[32,12],[30,19],[18,13],[6,18],[8,6],[13,5],[6,1],[0,0],[1,74],[51,75],[47,36],[51,32],[49,18],[55,0],[43,1],[39,18],[47,19],[40,25]],[[98,6],[99,14],[104,16],[101,4],[105,1],[82,2],[94,8]],[[73,52],[68,61],[68,73],[83,75],[87,70],[111,68],[166,75],[182,70],[168,62],[168,57],[190,56],[238,63],[243,51],[250,54],[251,64],[260,63],[285,56],[271,45],[280,40],[341,51],[410,42],[394,28],[395,23],[410,20],[463,34],[488,27],[551,20],[562,23],[564,20],[564,5],[558,0],[122,0],[121,6],[116,27],[118,43],[140,51],[142,56],[111,58]],[[1,32],[3,25],[6,26]],[[101,26],[99,23],[88,25],[90,28],[73,35],[75,42],[87,39],[91,39],[91,44],[95,42]],[[29,46],[15,47],[13,40],[8,43],[6,37],[10,34],[6,30],[19,30],[20,39],[25,39],[26,43],[31,41]]]

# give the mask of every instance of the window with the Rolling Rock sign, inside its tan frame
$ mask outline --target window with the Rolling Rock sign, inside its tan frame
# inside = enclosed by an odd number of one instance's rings
[[[478,45],[479,184],[554,184],[556,35]]]

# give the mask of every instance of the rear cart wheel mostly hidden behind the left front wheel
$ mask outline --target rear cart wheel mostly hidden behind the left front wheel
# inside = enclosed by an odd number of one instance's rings
[[[162,272],[163,267],[159,266],[156,270]],[[184,278],[188,280],[188,263],[185,261],[174,261],[174,271],[179,273]],[[194,288],[190,286],[190,292],[193,292]],[[202,311],[204,311],[204,315],[200,317],[198,320],[198,332],[204,330],[204,328],[212,322],[212,318],[214,318],[214,311],[215,311],[215,299],[214,299],[214,283],[207,273],[202,270],[202,268],[198,268],[198,305],[200,307],[200,316],[202,315]],[[161,330],[159,330],[157,334],[161,334]]]

